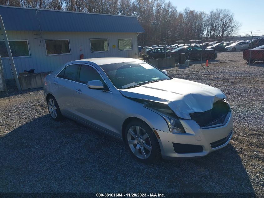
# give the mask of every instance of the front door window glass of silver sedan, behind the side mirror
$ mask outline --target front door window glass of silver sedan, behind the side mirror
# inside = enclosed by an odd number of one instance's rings
[[[80,70],[79,83],[87,84],[91,80],[100,80],[102,84],[104,81],[100,74],[91,66],[82,65]]]

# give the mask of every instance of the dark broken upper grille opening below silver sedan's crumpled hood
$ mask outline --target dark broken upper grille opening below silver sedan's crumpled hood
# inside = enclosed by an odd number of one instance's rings
[[[215,102],[212,109],[204,112],[191,113],[190,116],[202,128],[224,124],[227,114],[230,111],[227,101],[222,99]]]

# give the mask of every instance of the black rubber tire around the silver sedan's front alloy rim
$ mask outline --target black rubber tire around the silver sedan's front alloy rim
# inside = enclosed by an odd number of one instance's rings
[[[150,140],[150,145],[151,145],[151,152],[149,153],[149,156],[146,158],[146,159],[140,159],[139,157],[137,157],[131,150],[130,148],[130,145],[128,144],[128,130],[131,128],[131,127],[134,127],[134,126],[139,126],[140,128],[142,128],[144,131],[142,131],[142,133],[146,132],[147,135],[148,135],[148,138]],[[136,140],[136,138],[135,138]],[[152,131],[152,129],[143,121],[140,121],[140,120],[134,120],[132,122],[130,122],[127,127],[126,127],[126,130],[125,130],[125,143],[127,145],[127,148],[130,152],[130,154],[133,156],[133,158],[137,159],[138,161],[140,162],[143,162],[143,163],[153,163],[157,160],[159,160],[161,158],[161,151],[160,151],[160,146],[159,146],[159,143],[158,143],[158,140],[157,140],[157,137],[156,135],[154,134],[154,132]],[[147,143],[147,142],[146,142]],[[148,143],[149,144],[149,143]],[[136,146],[136,145],[139,145],[138,143],[137,144],[131,144],[131,146]],[[136,149],[136,148],[135,148]],[[141,149],[141,148],[140,148]],[[139,153],[142,151],[139,149]],[[144,149],[144,148],[143,148]]]

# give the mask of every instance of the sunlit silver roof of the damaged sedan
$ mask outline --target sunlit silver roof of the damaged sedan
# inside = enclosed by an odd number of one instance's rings
[[[105,64],[112,64],[112,63],[126,63],[126,62],[135,62],[135,61],[141,61],[136,58],[114,58],[114,57],[108,57],[108,58],[87,58],[87,59],[81,59],[81,60],[75,60],[70,62],[72,63],[95,63],[97,65],[105,65]]]

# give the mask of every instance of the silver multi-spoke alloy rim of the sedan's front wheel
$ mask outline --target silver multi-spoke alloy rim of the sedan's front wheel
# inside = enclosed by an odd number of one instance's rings
[[[127,143],[132,153],[139,159],[147,159],[151,154],[151,141],[140,126],[132,126],[127,131]]]

